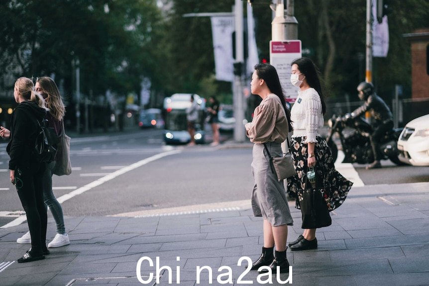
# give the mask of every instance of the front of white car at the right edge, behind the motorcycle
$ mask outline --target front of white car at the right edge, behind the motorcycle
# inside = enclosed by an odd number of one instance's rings
[[[398,140],[399,160],[413,166],[429,166],[429,114],[405,125]]]

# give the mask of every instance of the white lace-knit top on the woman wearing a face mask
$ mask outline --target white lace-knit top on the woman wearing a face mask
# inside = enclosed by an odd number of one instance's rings
[[[317,142],[319,128],[323,127],[322,101],[318,92],[313,89],[298,91],[298,97],[291,109],[292,137],[307,136],[305,143]]]

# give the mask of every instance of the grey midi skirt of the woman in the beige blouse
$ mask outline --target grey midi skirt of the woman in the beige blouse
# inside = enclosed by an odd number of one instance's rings
[[[280,143],[266,143],[272,157],[283,156]],[[264,144],[253,145],[252,174],[255,183],[252,191],[252,210],[254,216],[262,216],[272,226],[293,225],[283,180],[270,169]]]

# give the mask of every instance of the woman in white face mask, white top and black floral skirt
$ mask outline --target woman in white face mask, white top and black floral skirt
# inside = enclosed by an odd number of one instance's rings
[[[299,88],[298,97],[291,110],[293,135],[291,154],[297,176],[288,178],[288,193],[296,196],[297,191],[305,189],[307,170],[316,167],[316,181],[330,186],[330,193],[336,201],[342,202],[353,185],[334,168],[332,154],[326,141],[318,133],[323,127],[323,114],[326,105],[323,98],[319,72],[309,58],[299,58],[292,62],[291,83]],[[297,199],[296,207],[299,208]],[[316,228],[303,215],[304,233],[289,244],[291,250],[316,249]]]

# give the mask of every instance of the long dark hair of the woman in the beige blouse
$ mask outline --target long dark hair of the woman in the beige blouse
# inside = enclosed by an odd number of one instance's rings
[[[283,108],[285,109],[286,119],[288,119],[289,131],[292,131],[291,111],[286,107],[285,94],[283,92],[282,85],[280,84],[276,68],[270,64],[257,64],[255,66],[255,70],[258,78],[263,79],[267,84],[268,89],[280,98]]]

